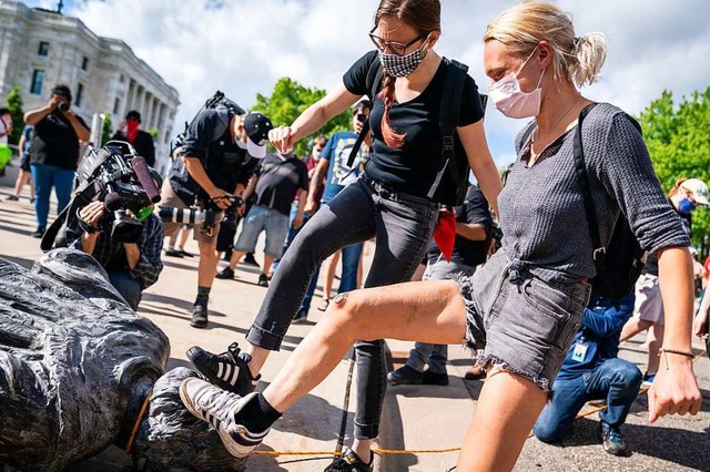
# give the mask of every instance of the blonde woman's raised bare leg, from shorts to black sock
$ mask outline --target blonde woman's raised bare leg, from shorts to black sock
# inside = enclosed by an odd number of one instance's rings
[[[286,411],[321,383],[358,339],[453,345],[462,342],[465,331],[466,308],[458,286],[452,280],[402,284],[396,290],[376,287],[341,294],[288,357],[264,390],[264,397],[276,410]]]

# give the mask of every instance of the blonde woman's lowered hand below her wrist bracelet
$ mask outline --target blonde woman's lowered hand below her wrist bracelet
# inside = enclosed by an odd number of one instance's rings
[[[702,397],[692,372],[692,359],[661,352],[661,365],[648,390],[649,421],[666,414],[697,414]]]

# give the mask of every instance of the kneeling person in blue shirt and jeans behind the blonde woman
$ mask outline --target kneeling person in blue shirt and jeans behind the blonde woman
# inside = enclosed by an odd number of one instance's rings
[[[532,432],[542,442],[558,442],[589,400],[606,400],[599,413],[599,434],[604,450],[627,455],[629,450],[619,431],[639,394],[641,371],[619,359],[621,328],[633,314],[635,295],[619,301],[592,296],[581,317],[579,330],[567,352],[555,383],[552,400],[545,407]]]

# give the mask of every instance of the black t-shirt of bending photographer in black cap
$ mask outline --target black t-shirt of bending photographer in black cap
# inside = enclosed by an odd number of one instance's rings
[[[199,157],[212,183],[225,192],[234,192],[237,184],[246,185],[260,160],[236,144],[230,132],[231,115],[205,110],[190,123],[183,140],[184,156]],[[221,134],[217,134],[221,133]],[[205,199],[201,188],[197,199]]]

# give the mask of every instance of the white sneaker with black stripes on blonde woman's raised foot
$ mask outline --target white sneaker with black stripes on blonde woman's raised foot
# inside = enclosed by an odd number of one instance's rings
[[[268,428],[266,431],[254,433],[234,420],[234,415],[256,394],[240,397],[196,377],[189,377],[180,384],[180,398],[187,410],[212,424],[226,450],[235,458],[248,455],[271,430]]]

